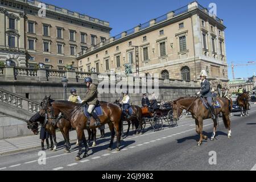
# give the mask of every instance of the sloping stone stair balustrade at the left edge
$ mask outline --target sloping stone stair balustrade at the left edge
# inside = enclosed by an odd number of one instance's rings
[[[0,103],[1,102],[30,111],[31,113],[36,113],[40,110],[40,104],[38,102],[31,101],[28,98],[24,98],[4,89],[0,89]]]

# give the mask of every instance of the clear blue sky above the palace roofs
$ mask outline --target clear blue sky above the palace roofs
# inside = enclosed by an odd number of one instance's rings
[[[43,0],[42,2],[106,20],[113,28],[110,32],[111,36],[114,36],[139,23],[185,6],[192,0]],[[208,7],[212,2],[217,5],[217,16],[224,20],[227,27],[225,42],[228,65],[231,65],[231,61],[237,64],[246,61],[256,62],[256,1],[199,0],[197,2],[204,7]],[[256,72],[256,64],[235,67],[234,71],[237,78],[249,77]],[[230,67],[228,75],[232,80]]]

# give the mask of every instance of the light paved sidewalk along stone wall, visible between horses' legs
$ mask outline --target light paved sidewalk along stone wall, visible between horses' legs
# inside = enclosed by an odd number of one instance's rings
[[[184,119],[190,118],[189,116],[183,116],[180,121]],[[163,125],[168,125],[167,122],[163,122]],[[123,131],[126,133],[128,125],[123,125]],[[146,128],[149,128],[150,124],[146,125]],[[58,130],[57,130],[58,131]],[[133,129],[130,126],[130,131],[133,131]],[[108,135],[110,132],[109,126],[105,125],[105,135]],[[26,151],[26,150],[31,150],[35,148],[41,148],[41,142],[39,139],[40,133],[38,135],[30,135],[26,137],[16,137],[16,138],[9,138],[9,139],[1,139],[0,140],[0,155],[6,155],[6,154],[13,154],[15,152],[20,152],[20,151]],[[88,133],[85,130],[85,137],[88,139]],[[97,129],[97,137],[100,137],[100,130]],[[70,131],[69,132],[69,139],[70,142],[76,142],[77,140],[77,134],[76,131]],[[64,141],[63,135],[58,131],[56,132],[56,140],[59,143],[57,146],[59,147],[61,144],[60,142]],[[46,146],[46,142],[44,143]]]

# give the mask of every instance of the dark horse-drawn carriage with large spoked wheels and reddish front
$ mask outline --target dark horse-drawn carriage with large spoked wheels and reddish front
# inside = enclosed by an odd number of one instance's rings
[[[158,109],[151,109],[148,106],[142,107],[142,129],[150,123],[154,131],[162,130],[163,121],[168,122],[170,127],[176,126],[177,122],[172,118],[172,108],[170,104],[159,107]]]

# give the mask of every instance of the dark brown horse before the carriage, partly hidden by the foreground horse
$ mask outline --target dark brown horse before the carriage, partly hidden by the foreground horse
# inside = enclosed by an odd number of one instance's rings
[[[115,100],[114,102],[115,104],[119,105],[119,107],[122,109],[122,105],[119,104],[119,101]],[[126,115],[123,114],[122,116],[122,137],[124,136],[123,134],[123,121],[127,121],[128,123],[128,129],[126,131],[126,135],[129,134],[130,131],[130,126],[135,125],[135,134],[139,134],[141,133],[141,129],[142,129],[142,109],[141,107],[137,106],[137,105],[131,105],[131,109],[133,110],[133,114],[130,115],[130,118],[127,119]]]

